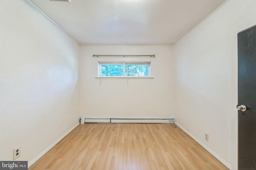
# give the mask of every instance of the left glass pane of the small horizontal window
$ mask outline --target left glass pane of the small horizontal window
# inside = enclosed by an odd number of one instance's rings
[[[124,76],[124,65],[101,64],[101,76]]]

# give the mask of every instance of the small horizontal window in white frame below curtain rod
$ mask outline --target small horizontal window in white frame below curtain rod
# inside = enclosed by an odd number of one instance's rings
[[[98,62],[99,77],[150,77],[147,62]]]

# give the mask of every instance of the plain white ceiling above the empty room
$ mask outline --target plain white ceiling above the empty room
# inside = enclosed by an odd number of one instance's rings
[[[225,0],[30,0],[80,44],[172,45]]]

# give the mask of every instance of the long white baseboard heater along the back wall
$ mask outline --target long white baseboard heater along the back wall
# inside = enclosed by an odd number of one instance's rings
[[[140,118],[84,118],[80,119],[84,123],[174,123],[174,118],[169,119],[140,119]]]

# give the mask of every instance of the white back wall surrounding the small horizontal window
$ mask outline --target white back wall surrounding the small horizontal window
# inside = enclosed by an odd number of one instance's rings
[[[98,55],[151,55],[156,58],[92,58]],[[82,46],[80,115],[93,118],[173,117],[173,47],[147,45]],[[98,61],[151,61],[154,79],[100,80]]]

